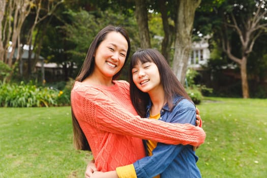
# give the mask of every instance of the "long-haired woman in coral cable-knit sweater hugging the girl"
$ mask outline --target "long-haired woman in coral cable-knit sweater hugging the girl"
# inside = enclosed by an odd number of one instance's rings
[[[200,127],[138,116],[129,83],[115,80],[129,53],[130,40],[122,27],[103,28],[91,43],[71,92],[74,145],[92,151],[99,171],[115,170],[143,158],[142,139],[194,146],[205,139]]]

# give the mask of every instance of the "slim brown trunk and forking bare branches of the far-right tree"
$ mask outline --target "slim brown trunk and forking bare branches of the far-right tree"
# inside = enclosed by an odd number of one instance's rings
[[[223,13],[222,19],[224,22],[220,29],[221,45],[227,56],[240,66],[243,98],[249,98],[249,85],[247,78],[248,56],[252,52],[256,39],[264,32],[264,29],[267,29],[267,23],[261,20],[267,12],[264,8],[261,8],[263,4],[264,1],[261,1],[261,4],[258,6],[259,8],[257,8],[253,14],[248,14],[246,16],[240,16],[239,14],[234,14],[233,12],[230,12],[229,14],[225,14],[224,11],[221,12]],[[238,17],[238,20],[236,17]],[[241,58],[232,54],[232,41],[230,37],[233,33],[238,34],[241,42]]]

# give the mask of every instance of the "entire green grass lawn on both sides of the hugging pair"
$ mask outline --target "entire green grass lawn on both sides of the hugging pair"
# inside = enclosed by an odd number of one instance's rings
[[[267,100],[206,98],[202,177],[266,177]],[[70,107],[0,108],[0,177],[84,177],[89,152],[72,145]]]

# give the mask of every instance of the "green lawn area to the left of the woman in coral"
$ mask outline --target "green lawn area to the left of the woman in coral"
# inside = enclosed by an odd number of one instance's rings
[[[0,108],[0,177],[84,177],[70,107]]]

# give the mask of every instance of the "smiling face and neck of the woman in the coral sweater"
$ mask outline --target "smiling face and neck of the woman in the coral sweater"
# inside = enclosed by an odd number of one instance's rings
[[[125,37],[117,32],[110,32],[95,52],[94,74],[106,80],[122,69],[127,55],[128,43]]]

